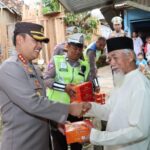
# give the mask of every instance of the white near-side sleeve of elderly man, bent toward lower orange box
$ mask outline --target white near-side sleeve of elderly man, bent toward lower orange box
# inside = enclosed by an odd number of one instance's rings
[[[149,136],[150,101],[148,90],[136,90],[131,98],[131,109],[128,113],[129,127],[116,131],[91,130],[90,141],[95,145],[120,145],[144,140]]]

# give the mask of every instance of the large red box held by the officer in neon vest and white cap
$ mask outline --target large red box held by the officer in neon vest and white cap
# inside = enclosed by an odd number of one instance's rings
[[[71,97],[71,102],[93,102],[93,87],[92,82],[84,82],[78,84],[74,88],[76,94],[74,97]]]

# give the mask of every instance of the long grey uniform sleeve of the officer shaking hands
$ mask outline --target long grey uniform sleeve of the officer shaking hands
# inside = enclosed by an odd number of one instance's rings
[[[63,123],[68,117],[68,105],[49,101],[39,96],[23,68],[16,63],[5,63],[0,68],[0,91],[10,102],[23,111],[42,118]]]

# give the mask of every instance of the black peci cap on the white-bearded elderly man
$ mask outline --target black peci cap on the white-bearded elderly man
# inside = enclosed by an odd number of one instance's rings
[[[108,53],[115,50],[121,50],[121,49],[133,50],[133,40],[129,37],[110,38],[106,42],[107,42]]]

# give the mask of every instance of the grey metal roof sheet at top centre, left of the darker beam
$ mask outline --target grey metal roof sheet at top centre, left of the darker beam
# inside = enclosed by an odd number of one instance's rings
[[[59,0],[71,12],[83,12],[93,8],[112,5],[114,0]]]

